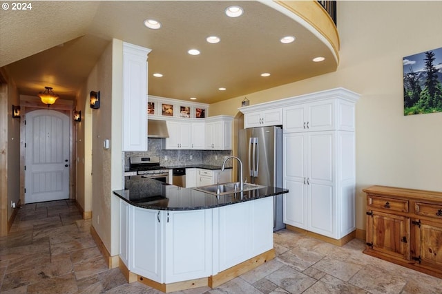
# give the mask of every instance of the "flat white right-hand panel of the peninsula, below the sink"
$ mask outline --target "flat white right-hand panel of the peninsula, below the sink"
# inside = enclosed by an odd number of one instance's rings
[[[273,207],[270,197],[219,208],[218,271],[273,248],[273,214],[269,207]]]

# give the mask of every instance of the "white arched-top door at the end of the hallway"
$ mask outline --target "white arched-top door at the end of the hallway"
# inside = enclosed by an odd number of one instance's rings
[[[66,114],[26,114],[25,203],[69,198],[69,127]]]

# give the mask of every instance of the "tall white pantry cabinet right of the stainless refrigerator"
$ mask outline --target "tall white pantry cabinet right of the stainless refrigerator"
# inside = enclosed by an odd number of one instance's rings
[[[283,218],[285,224],[340,239],[356,229],[354,103],[357,96],[284,107]],[[352,101],[353,99],[353,101]]]

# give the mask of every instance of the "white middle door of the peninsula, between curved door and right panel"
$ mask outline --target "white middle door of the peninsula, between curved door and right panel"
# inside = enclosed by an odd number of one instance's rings
[[[166,212],[165,283],[211,275],[211,212],[211,209]]]

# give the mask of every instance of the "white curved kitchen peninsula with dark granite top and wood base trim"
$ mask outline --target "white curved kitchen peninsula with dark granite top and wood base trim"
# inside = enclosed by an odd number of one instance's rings
[[[273,197],[259,187],[213,195],[146,180],[119,198],[119,259],[128,282],[163,292],[216,286],[274,257]]]

